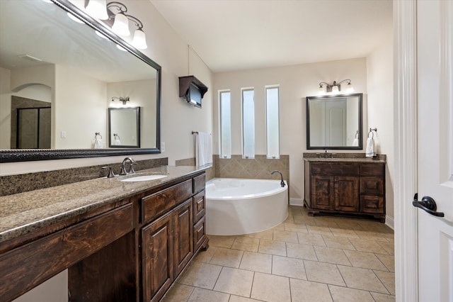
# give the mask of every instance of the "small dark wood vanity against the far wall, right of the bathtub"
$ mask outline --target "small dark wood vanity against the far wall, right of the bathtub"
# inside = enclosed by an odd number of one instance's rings
[[[322,155],[323,156],[323,155]],[[385,222],[385,156],[304,154],[304,206],[318,213],[369,216]]]

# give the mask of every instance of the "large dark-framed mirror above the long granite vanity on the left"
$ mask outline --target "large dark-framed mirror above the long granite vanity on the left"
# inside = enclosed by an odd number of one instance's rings
[[[0,1],[0,162],[160,153],[161,67],[99,22],[67,0]],[[50,108],[45,149],[17,144],[32,107]],[[140,107],[139,144],[107,142],[110,107]]]

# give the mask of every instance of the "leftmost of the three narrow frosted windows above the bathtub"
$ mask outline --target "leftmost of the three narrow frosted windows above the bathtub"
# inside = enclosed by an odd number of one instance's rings
[[[231,92],[219,91],[220,157],[231,157]]]

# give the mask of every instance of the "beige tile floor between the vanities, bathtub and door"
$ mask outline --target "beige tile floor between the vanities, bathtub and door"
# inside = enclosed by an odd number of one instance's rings
[[[289,206],[272,230],[209,236],[163,301],[395,301],[394,232]]]

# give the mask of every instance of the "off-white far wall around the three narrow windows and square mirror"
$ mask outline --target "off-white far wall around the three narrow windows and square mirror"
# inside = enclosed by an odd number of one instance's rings
[[[264,155],[266,152],[264,87],[280,84],[280,153],[289,155],[291,179],[289,198],[292,203],[302,204],[304,196],[302,153],[306,152],[305,97],[318,95],[319,82],[331,83],[343,79],[351,79],[355,92],[364,94],[364,112],[367,112],[365,58],[214,74],[214,154],[219,153],[217,91],[231,89],[232,154],[241,155],[241,87],[254,87],[256,154]],[[364,125],[365,127],[367,125],[366,115]]]

